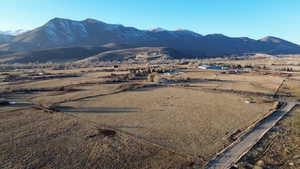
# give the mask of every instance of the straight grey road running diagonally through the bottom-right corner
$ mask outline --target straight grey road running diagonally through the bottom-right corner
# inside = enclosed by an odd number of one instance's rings
[[[228,169],[232,167],[245,153],[248,152],[283,116],[299,102],[287,102],[281,110],[272,113],[258,125],[235,141],[225,151],[212,160],[207,169]]]

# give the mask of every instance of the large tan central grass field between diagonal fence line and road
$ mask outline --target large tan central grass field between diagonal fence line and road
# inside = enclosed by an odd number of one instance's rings
[[[226,135],[246,128],[271,107],[244,101],[226,93],[145,88],[65,103],[59,110],[208,160],[228,144]]]

